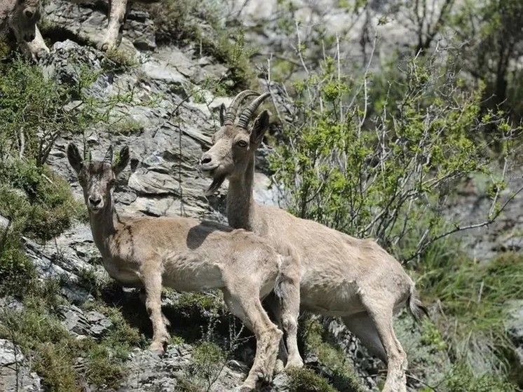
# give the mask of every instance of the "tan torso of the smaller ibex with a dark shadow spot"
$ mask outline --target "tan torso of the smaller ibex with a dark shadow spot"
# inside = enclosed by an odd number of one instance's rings
[[[118,254],[127,262],[139,265],[160,258],[165,285],[177,290],[221,288],[224,271],[254,275],[260,262],[274,271],[271,278],[278,271],[278,255],[267,241],[216,222],[186,217],[124,219],[114,240],[125,248]]]

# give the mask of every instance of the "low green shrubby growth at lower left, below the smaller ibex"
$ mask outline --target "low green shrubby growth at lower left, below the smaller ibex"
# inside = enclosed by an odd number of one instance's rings
[[[67,304],[59,295],[59,285],[50,281],[37,285],[23,299],[21,310],[0,312],[0,337],[18,344],[33,358],[34,370],[50,391],[83,391],[84,381],[100,388],[118,388],[126,374],[125,361],[133,346],[144,340],[131,327],[118,309],[103,304],[90,304],[113,323],[100,340],[77,339],[55,313],[59,304]],[[77,358],[85,358],[78,366]]]

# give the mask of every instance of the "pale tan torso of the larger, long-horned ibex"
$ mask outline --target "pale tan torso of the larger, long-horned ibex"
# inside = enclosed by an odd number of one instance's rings
[[[305,308],[334,316],[363,310],[360,295],[380,288],[407,300],[412,279],[401,264],[371,239],[358,239],[289,212],[260,205],[266,219],[264,235],[301,262],[301,299]],[[351,304],[353,309],[347,309]],[[326,309],[329,309],[327,312]]]

